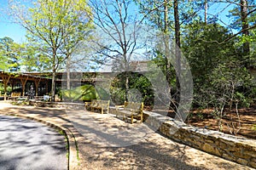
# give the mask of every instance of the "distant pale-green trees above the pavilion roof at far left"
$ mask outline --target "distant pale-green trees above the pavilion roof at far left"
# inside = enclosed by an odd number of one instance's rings
[[[9,37],[0,38],[0,70],[50,71],[49,57],[29,43],[16,43]]]

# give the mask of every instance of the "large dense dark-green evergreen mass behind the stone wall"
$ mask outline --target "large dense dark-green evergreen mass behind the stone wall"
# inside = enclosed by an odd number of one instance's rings
[[[191,67],[196,106],[228,105],[230,101],[249,105],[252,79],[229,31],[218,24],[195,21],[183,38],[183,51]],[[221,43],[224,42],[224,43]],[[232,103],[231,102],[231,103]]]

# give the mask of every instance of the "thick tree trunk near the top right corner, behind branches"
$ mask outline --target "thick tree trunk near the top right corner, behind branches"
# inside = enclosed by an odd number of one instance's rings
[[[247,0],[241,0],[240,3],[241,3],[241,29],[243,30],[242,35],[248,36],[249,35],[249,31],[247,30],[247,28],[249,27],[248,21],[247,21],[248,3],[247,3]],[[244,42],[242,46],[243,46],[242,48],[243,48],[244,56],[248,56],[250,54],[250,43]]]

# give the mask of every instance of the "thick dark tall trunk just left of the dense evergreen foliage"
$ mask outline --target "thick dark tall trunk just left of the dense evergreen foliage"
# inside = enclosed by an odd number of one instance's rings
[[[180,77],[180,71],[181,71],[181,52],[180,52],[180,25],[179,25],[179,16],[178,16],[178,2],[177,0],[174,0],[173,3],[174,8],[174,22],[175,22],[175,42],[176,42],[176,48],[175,48],[175,56],[176,56],[176,101],[177,104],[180,99],[180,84],[179,84],[179,77]]]

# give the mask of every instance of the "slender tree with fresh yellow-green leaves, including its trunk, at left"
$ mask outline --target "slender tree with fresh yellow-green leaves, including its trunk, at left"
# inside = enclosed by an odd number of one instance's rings
[[[65,65],[79,42],[90,33],[90,8],[83,0],[38,0],[28,7],[11,0],[9,6],[10,15],[26,28],[29,42],[41,50],[38,57],[47,55],[49,58],[43,60],[51,65],[51,97],[54,99],[55,72]]]

